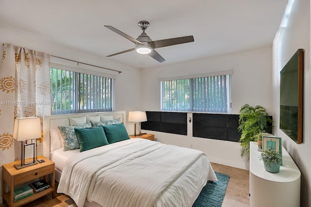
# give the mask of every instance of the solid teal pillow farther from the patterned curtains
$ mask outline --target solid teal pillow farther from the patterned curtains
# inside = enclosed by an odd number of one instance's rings
[[[102,127],[104,128],[104,132],[109,144],[130,139],[123,123],[105,125]]]

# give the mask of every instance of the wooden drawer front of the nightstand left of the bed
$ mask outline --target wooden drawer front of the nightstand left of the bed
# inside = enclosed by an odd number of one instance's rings
[[[33,180],[33,179],[38,178],[38,177],[42,177],[44,175],[47,175],[47,174],[50,174],[53,172],[54,172],[54,166],[51,165],[48,167],[33,170],[31,172],[28,172],[28,173],[24,173],[22,175],[17,175],[14,177],[14,185],[18,185],[18,184],[27,182],[29,180]]]

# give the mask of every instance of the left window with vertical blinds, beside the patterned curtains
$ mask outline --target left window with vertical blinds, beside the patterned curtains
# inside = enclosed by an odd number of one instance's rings
[[[50,67],[52,114],[112,111],[111,78]]]

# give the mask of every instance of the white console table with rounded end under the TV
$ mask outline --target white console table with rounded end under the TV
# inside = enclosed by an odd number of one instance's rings
[[[259,160],[257,142],[250,143],[250,207],[299,207],[300,171],[283,147],[280,172],[269,173]]]

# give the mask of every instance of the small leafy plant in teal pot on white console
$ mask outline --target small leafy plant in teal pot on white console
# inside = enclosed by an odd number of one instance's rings
[[[270,173],[278,173],[280,171],[281,157],[278,152],[269,148],[264,150],[260,157],[263,160],[264,169]]]

